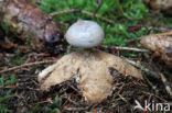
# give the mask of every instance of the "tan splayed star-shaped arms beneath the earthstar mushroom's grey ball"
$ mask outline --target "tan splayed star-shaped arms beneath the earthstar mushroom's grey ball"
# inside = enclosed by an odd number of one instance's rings
[[[114,68],[126,76],[142,79],[141,74],[120,57],[100,50],[74,52],[62,57],[56,64],[47,67],[39,75],[43,82],[42,90],[75,78],[78,88],[89,103],[101,102],[112,88],[112,76],[109,68]]]

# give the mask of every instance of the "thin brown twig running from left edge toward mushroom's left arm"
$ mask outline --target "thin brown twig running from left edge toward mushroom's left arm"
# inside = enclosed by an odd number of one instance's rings
[[[24,65],[21,65],[21,66],[15,66],[15,67],[12,67],[12,68],[0,70],[0,74],[11,71],[11,70],[15,70],[15,69],[20,69],[20,68],[28,67],[28,66],[42,65],[42,64],[55,63],[55,61],[56,60],[43,60],[43,61],[29,63],[29,64],[24,64]]]

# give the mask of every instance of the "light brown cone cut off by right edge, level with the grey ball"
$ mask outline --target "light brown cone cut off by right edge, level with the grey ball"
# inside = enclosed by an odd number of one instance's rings
[[[172,67],[172,32],[143,36],[140,43]]]

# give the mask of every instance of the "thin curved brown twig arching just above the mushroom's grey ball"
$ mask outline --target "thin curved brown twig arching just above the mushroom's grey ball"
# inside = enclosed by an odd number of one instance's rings
[[[69,9],[69,10],[63,10],[63,11],[58,11],[58,12],[53,12],[51,13],[50,15],[51,16],[56,16],[56,15],[60,15],[60,14],[64,14],[64,13],[83,13],[83,14],[87,14],[92,18],[98,18],[105,22],[108,22],[109,24],[115,24],[115,22],[110,19],[107,19],[107,18],[104,18],[104,16],[100,16],[98,14],[95,14],[93,12],[89,12],[89,11],[84,11],[84,10],[80,10],[80,9]]]

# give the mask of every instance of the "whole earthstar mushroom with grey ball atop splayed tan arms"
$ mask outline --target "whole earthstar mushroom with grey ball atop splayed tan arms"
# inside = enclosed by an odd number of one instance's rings
[[[78,20],[66,32],[67,42],[76,47],[93,48],[101,44],[103,29],[93,21]],[[75,78],[77,87],[89,103],[101,102],[112,89],[112,76],[109,68],[114,68],[126,76],[142,79],[141,74],[122,58],[98,50],[84,49],[63,56],[54,65],[39,75],[41,89]]]

